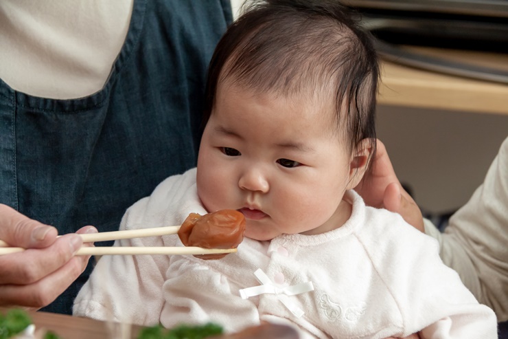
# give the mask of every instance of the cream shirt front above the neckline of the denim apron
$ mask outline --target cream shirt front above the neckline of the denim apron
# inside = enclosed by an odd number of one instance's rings
[[[106,83],[133,0],[1,0],[0,78],[31,96],[89,96]]]

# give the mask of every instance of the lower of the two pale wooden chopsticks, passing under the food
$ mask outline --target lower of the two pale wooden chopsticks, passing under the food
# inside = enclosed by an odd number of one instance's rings
[[[4,247],[0,248],[0,255],[25,251],[24,248]],[[237,252],[236,248],[200,248],[188,247],[82,247],[76,255],[174,255],[174,254],[220,254]]]

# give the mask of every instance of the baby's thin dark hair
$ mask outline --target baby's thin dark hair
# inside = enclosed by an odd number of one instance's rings
[[[211,58],[205,124],[220,81],[286,96],[323,91],[335,96],[336,128],[350,140],[349,150],[367,139],[372,157],[379,65],[371,34],[358,19],[338,0],[250,1]]]

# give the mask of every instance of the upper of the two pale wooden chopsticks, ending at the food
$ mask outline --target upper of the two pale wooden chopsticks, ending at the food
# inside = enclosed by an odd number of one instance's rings
[[[121,230],[113,232],[99,232],[78,234],[84,243],[93,243],[95,241],[109,241],[117,239],[132,239],[143,237],[160,237],[161,235],[176,234],[180,226],[164,226],[154,228],[137,228],[135,230]],[[60,237],[60,236],[59,236]],[[0,248],[9,247],[9,244],[0,240]]]

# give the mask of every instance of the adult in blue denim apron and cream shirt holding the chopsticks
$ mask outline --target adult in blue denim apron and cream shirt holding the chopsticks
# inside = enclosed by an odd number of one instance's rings
[[[125,206],[196,165],[231,17],[229,0],[0,1],[0,239],[33,248],[0,256],[0,306],[65,290],[44,310],[70,314],[91,265],[80,274],[80,237],[57,232],[117,230]]]

